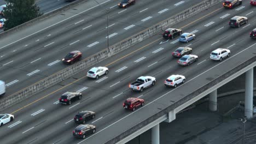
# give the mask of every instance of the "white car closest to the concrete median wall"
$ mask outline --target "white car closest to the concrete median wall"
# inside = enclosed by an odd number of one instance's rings
[[[91,68],[87,72],[87,77],[98,79],[98,77],[100,77],[102,75],[107,75],[107,74],[108,74],[108,68],[106,68],[106,67],[94,67],[94,68]]]

